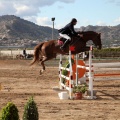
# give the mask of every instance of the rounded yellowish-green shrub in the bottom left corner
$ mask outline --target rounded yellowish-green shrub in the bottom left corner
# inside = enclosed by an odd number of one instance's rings
[[[1,119],[19,120],[18,109],[12,102],[8,102],[7,105],[2,109]]]

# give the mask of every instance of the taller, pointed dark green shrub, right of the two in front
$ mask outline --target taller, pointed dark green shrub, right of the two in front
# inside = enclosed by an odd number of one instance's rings
[[[38,120],[39,114],[37,110],[36,103],[33,100],[33,97],[29,98],[29,101],[25,105],[23,120]]]

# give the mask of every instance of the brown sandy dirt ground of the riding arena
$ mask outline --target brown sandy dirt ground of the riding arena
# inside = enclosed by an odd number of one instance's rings
[[[52,90],[58,86],[58,68],[48,67],[39,76],[39,66],[29,67],[29,63],[29,60],[0,60],[0,109],[12,101],[22,120],[24,105],[34,95],[40,120],[120,120],[119,80],[94,81],[96,100],[60,100]]]

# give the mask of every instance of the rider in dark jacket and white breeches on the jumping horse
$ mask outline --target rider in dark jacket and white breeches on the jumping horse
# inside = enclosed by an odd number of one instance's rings
[[[73,18],[70,23],[68,23],[64,28],[59,29],[59,35],[63,38],[66,38],[64,44],[60,47],[61,50],[64,50],[65,47],[71,42],[72,36],[78,36],[78,33],[74,30],[74,25],[77,24],[77,20]]]

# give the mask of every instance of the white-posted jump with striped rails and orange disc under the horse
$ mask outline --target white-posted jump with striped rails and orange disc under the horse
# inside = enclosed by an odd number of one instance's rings
[[[72,50],[69,48],[69,68],[62,67],[62,55],[60,55],[60,61],[59,61],[59,82],[60,82],[60,89],[66,89],[69,92],[69,98],[73,99],[73,85],[74,81],[76,81],[76,86],[78,85],[78,79],[80,77],[83,77],[86,79],[85,73],[88,73],[88,79],[89,79],[89,91],[91,93],[90,96],[88,96],[87,99],[94,99],[95,96],[93,96],[93,75],[92,75],[92,46],[89,50],[89,64],[88,66],[85,65],[85,63],[82,61],[82,65],[78,64],[80,61],[78,60],[78,54],[76,54],[76,64],[74,66],[72,65]],[[69,71],[69,77],[62,74],[62,70]],[[80,73],[82,71],[82,74]],[[74,77],[74,74],[76,77]],[[80,76],[81,75],[81,76]],[[84,76],[83,76],[84,75]],[[79,77],[80,76],[80,77]],[[65,78],[66,80],[69,80],[69,86],[65,85],[63,83],[62,78]]]

